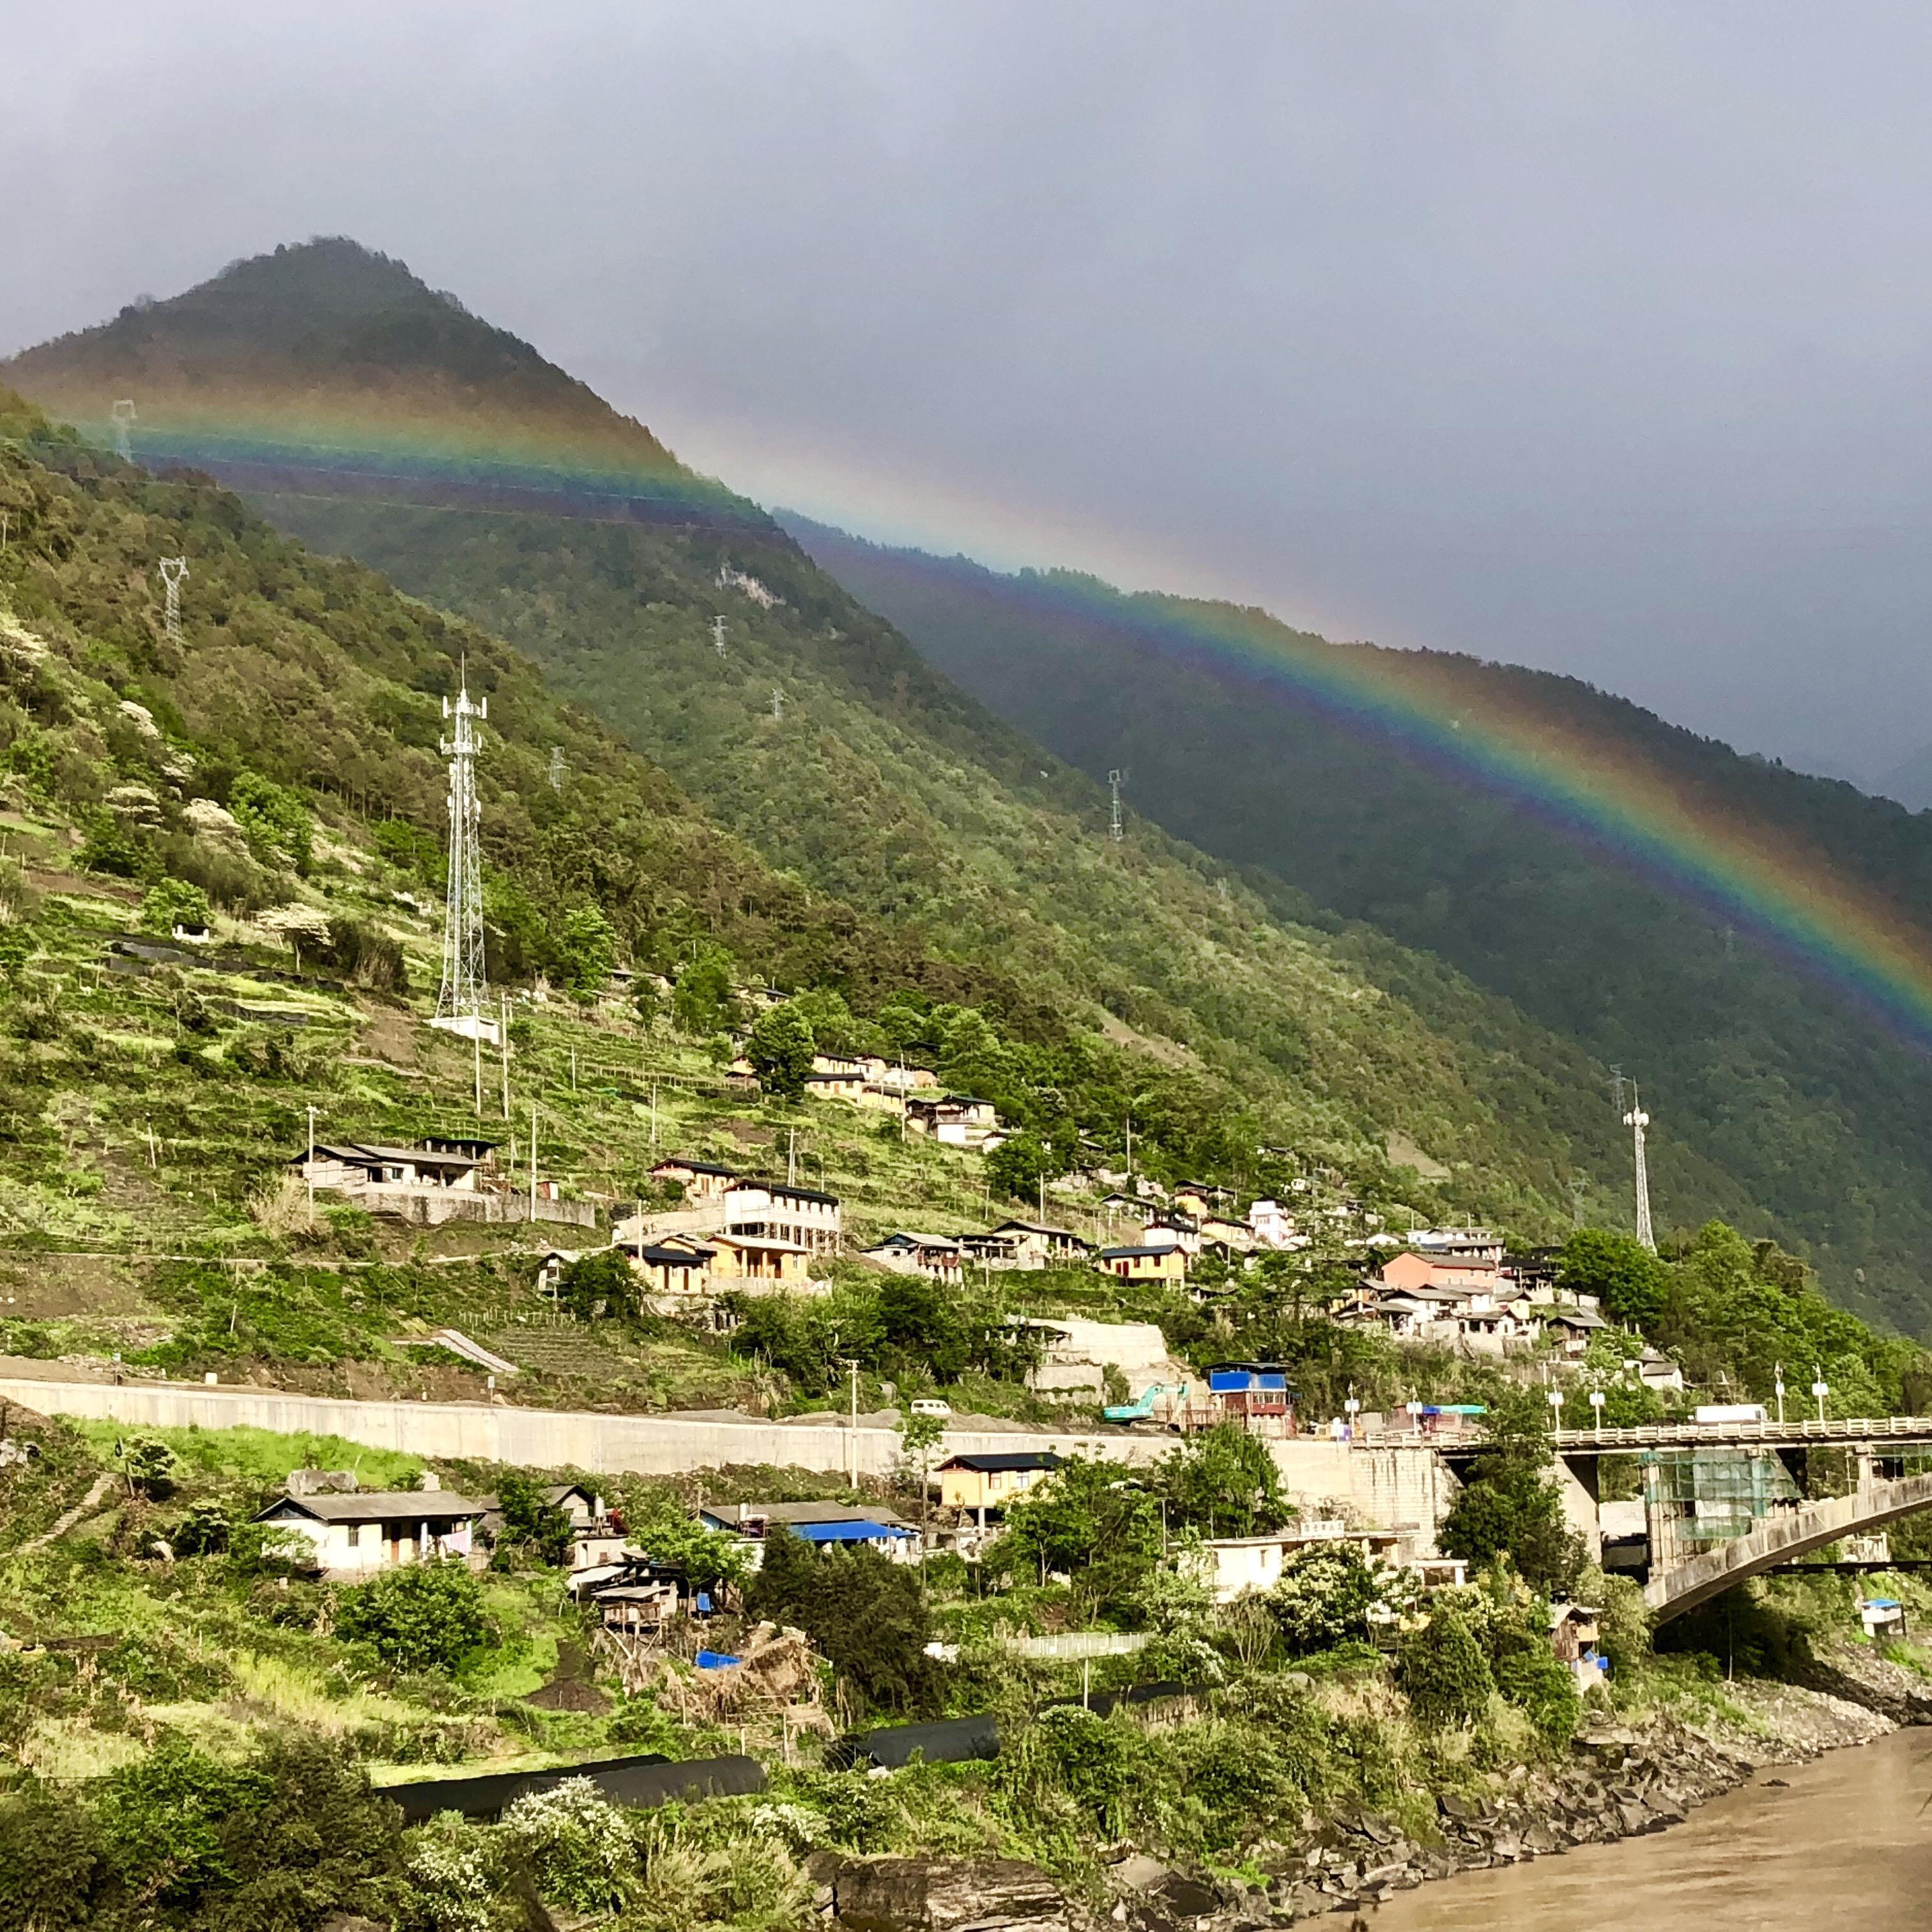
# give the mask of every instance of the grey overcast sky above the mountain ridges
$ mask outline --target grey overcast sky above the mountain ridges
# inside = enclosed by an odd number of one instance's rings
[[[14,8],[0,350],[344,232],[767,502],[1932,742],[1932,10]]]

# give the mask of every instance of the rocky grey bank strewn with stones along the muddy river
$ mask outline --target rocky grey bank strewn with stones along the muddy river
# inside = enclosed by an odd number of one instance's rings
[[[1694,1721],[1592,1723],[1563,1764],[1441,1793],[1428,1826],[1362,1812],[1312,1822],[1296,1843],[1264,1851],[1258,1882],[1130,1853],[1107,1866],[1103,1897],[1074,1899],[1010,1859],[819,1855],[819,1911],[842,1932],[1262,1932],[1432,1878],[1663,1832],[1768,1766],[1932,1723],[1926,1681],[1868,1650],[1833,1650],[1810,1675],[1723,1685]]]

